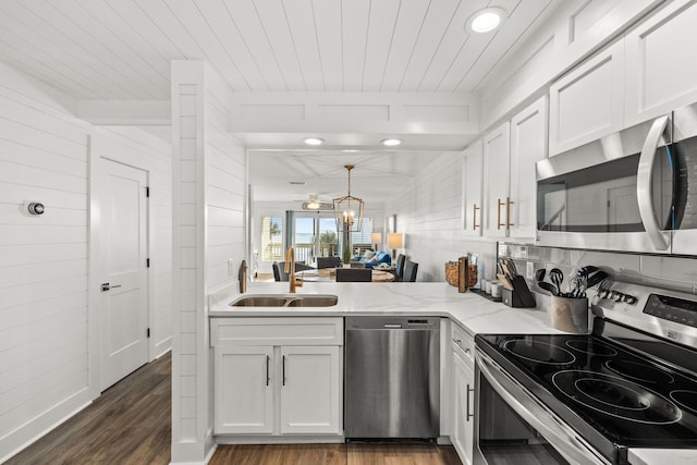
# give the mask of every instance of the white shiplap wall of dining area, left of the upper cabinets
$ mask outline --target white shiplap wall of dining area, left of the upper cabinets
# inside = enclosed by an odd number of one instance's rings
[[[468,252],[485,260],[485,276],[493,278],[496,240],[464,234],[462,160],[455,154],[433,158],[411,186],[386,205],[387,215],[396,213],[398,232],[405,234],[405,247],[398,254],[418,264],[417,281],[445,281],[445,261]]]

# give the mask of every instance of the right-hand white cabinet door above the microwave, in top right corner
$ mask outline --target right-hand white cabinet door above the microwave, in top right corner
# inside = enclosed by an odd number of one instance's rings
[[[673,1],[626,36],[626,125],[697,101],[695,24],[697,1]]]

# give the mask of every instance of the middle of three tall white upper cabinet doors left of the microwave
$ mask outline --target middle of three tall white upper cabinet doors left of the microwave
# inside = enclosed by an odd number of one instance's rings
[[[511,125],[503,123],[484,138],[485,198],[484,233],[487,237],[505,237],[506,199],[509,198],[509,163]]]

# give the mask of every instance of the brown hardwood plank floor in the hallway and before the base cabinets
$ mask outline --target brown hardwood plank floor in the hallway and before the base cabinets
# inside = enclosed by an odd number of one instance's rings
[[[170,462],[171,355],[109,388],[7,465],[158,465]],[[461,465],[432,444],[219,445],[211,465]]]

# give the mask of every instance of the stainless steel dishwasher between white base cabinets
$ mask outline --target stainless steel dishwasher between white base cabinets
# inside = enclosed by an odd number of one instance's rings
[[[345,320],[347,439],[431,439],[440,433],[440,319]]]

